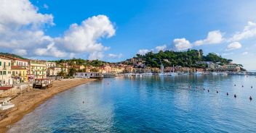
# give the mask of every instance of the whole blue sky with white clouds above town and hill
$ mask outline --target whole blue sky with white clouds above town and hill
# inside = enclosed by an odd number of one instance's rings
[[[123,61],[203,49],[256,69],[256,1],[0,0],[0,51]]]

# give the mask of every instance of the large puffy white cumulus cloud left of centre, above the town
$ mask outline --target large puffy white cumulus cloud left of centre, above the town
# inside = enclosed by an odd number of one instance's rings
[[[73,24],[65,32],[63,38],[56,38],[59,46],[65,46],[65,50],[71,52],[105,51],[108,47],[98,43],[100,38],[110,38],[115,35],[111,21],[105,15],[89,17],[81,22],[81,25]]]

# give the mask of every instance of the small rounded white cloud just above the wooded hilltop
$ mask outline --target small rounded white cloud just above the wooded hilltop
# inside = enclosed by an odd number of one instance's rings
[[[185,38],[176,38],[173,40],[173,44],[178,51],[183,51],[192,47],[191,43]]]

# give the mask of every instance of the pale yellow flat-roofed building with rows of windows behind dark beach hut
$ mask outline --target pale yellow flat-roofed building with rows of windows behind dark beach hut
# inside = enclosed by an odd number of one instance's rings
[[[47,61],[28,61],[28,80],[41,79],[47,77]]]

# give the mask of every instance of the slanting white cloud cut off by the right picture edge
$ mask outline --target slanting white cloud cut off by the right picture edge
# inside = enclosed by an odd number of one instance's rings
[[[229,41],[238,41],[247,38],[256,37],[256,23],[255,22],[247,22],[247,25],[244,27],[244,30],[241,32],[235,33]]]

